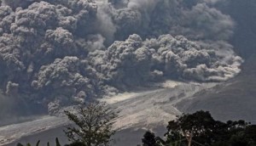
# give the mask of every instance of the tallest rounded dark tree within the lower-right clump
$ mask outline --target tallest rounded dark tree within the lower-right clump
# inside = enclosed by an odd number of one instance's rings
[[[194,114],[184,114],[178,116],[175,121],[169,121],[166,142],[172,143],[180,138],[186,138],[188,143],[194,140],[209,145],[214,140],[212,132],[222,125],[223,123],[214,121],[209,112],[197,111]]]

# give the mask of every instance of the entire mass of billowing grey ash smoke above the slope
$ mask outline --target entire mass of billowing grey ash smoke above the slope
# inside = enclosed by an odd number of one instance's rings
[[[217,0],[3,0],[0,87],[58,109],[148,81],[226,81],[242,59]]]

